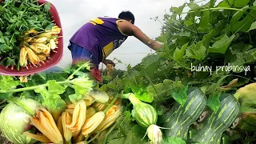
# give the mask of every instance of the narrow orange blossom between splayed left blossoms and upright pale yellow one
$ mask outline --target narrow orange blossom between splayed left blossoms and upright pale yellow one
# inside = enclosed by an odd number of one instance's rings
[[[66,139],[66,142],[70,142],[72,138],[72,132],[69,128],[66,127],[67,124],[72,122],[72,118],[69,113],[62,113],[62,128],[63,128],[63,136]]]

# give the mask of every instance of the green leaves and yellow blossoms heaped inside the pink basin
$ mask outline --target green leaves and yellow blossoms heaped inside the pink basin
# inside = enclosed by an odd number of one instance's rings
[[[19,70],[38,66],[57,48],[61,29],[52,21],[50,3],[0,2],[0,65]]]

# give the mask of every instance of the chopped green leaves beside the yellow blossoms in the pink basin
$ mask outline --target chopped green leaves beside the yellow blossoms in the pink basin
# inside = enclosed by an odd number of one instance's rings
[[[50,3],[38,1],[0,2],[0,56],[2,66],[15,66],[19,70],[20,47],[29,30],[45,31],[54,26]],[[32,35],[33,37],[33,35]]]

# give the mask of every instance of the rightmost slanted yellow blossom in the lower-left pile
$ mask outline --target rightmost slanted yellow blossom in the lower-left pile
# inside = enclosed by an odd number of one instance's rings
[[[111,106],[109,110],[106,111],[106,117],[103,119],[102,123],[94,130],[94,132],[106,130],[111,126],[115,120],[122,114],[122,107]]]

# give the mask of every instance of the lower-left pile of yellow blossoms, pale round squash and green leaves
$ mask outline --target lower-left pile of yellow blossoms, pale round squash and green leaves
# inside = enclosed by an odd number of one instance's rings
[[[88,63],[59,73],[40,73],[21,83],[0,76],[0,130],[10,142],[94,142],[122,114],[118,96],[93,90]]]

